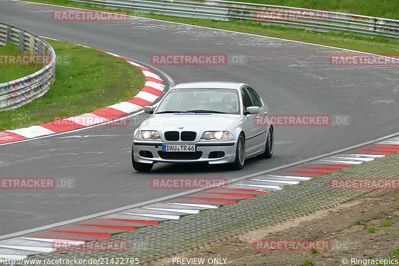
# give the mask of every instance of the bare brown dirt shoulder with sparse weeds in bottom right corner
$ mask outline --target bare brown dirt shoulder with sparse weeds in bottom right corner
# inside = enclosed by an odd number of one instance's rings
[[[329,240],[331,249],[257,251],[254,249],[254,242],[259,239]],[[272,241],[267,243],[270,246],[258,247],[277,247],[273,246]],[[280,247],[283,249],[284,242],[281,243]],[[188,263],[188,260],[194,258],[203,258],[204,264],[193,260]],[[213,260],[214,258],[220,260]],[[373,260],[384,259],[398,261],[391,261],[391,264],[383,262],[381,266],[399,265],[398,190],[372,191],[337,207],[253,230],[195,251],[153,262],[151,265],[355,266],[379,265],[375,261],[373,263]]]

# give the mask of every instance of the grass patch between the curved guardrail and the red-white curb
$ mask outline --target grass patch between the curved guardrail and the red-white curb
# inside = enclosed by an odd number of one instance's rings
[[[94,48],[47,41],[60,59],[55,82],[43,97],[1,112],[0,131],[49,122],[53,116],[91,112],[132,98],[144,86],[141,70],[121,58]]]

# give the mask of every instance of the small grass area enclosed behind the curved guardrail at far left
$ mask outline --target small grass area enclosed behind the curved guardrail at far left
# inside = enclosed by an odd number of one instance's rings
[[[6,54],[19,54],[18,45],[8,43],[7,45],[0,47],[0,83],[8,82],[14,79],[18,79],[40,70],[43,66],[39,65],[5,65],[8,61]]]

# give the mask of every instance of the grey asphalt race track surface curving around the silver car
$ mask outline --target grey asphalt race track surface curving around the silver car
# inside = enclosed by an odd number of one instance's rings
[[[289,40],[132,17],[127,21],[53,21],[63,7],[0,0],[0,21],[35,34],[81,43],[130,58],[157,72],[167,85],[231,80],[252,85],[273,114],[349,116],[349,125],[275,128],[271,159],[250,159],[240,171],[203,164],[156,164],[150,173],[132,169],[132,132],[95,127],[0,146],[0,177],[53,177],[71,188],[1,190],[0,236],[174,195],[154,190],[153,177],[233,179],[357,145],[398,131],[399,69],[395,66],[332,66],[342,49]],[[154,53],[224,53],[243,63],[155,66]],[[237,57],[234,57],[237,58]],[[167,73],[168,76],[165,76]],[[67,114],[66,114],[67,115]]]

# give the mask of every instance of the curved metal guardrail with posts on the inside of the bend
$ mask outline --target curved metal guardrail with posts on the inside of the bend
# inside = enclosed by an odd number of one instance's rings
[[[31,75],[0,83],[0,111],[16,109],[43,96],[54,82],[54,49],[45,40],[23,29],[0,23],[0,46],[7,43],[19,45],[19,53],[28,50],[36,56],[50,56],[51,60],[42,69]]]

